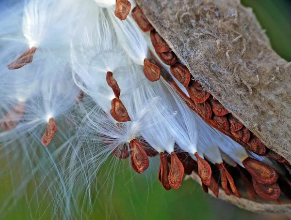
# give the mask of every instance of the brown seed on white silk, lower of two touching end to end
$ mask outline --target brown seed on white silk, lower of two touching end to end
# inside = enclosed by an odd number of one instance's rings
[[[130,121],[129,113],[120,99],[114,98],[111,101],[110,114],[118,122]]]

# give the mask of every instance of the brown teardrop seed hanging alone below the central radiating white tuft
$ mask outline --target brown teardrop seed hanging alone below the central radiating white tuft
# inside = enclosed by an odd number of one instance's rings
[[[133,164],[140,174],[149,166],[149,160],[142,145],[143,144],[137,139],[133,139],[129,143]]]

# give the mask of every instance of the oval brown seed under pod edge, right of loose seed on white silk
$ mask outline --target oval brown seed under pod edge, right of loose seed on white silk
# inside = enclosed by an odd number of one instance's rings
[[[181,83],[184,87],[188,87],[191,74],[188,68],[182,63],[176,62],[171,66],[170,71],[172,75]]]

